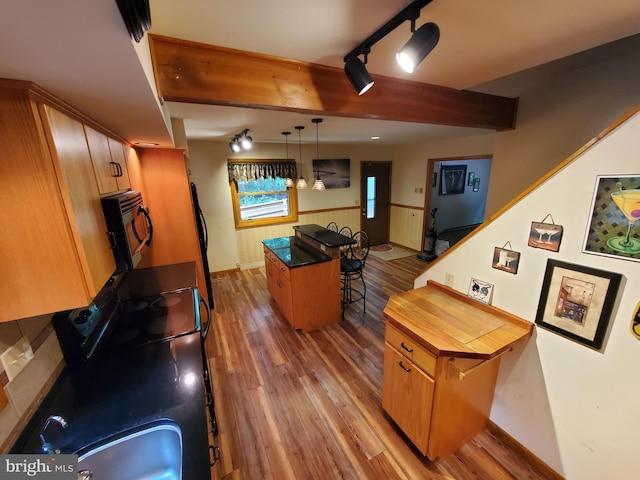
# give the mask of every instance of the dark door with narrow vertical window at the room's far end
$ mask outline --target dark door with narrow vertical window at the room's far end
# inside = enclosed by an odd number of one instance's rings
[[[360,228],[369,236],[371,245],[389,241],[391,210],[391,163],[360,164]]]

